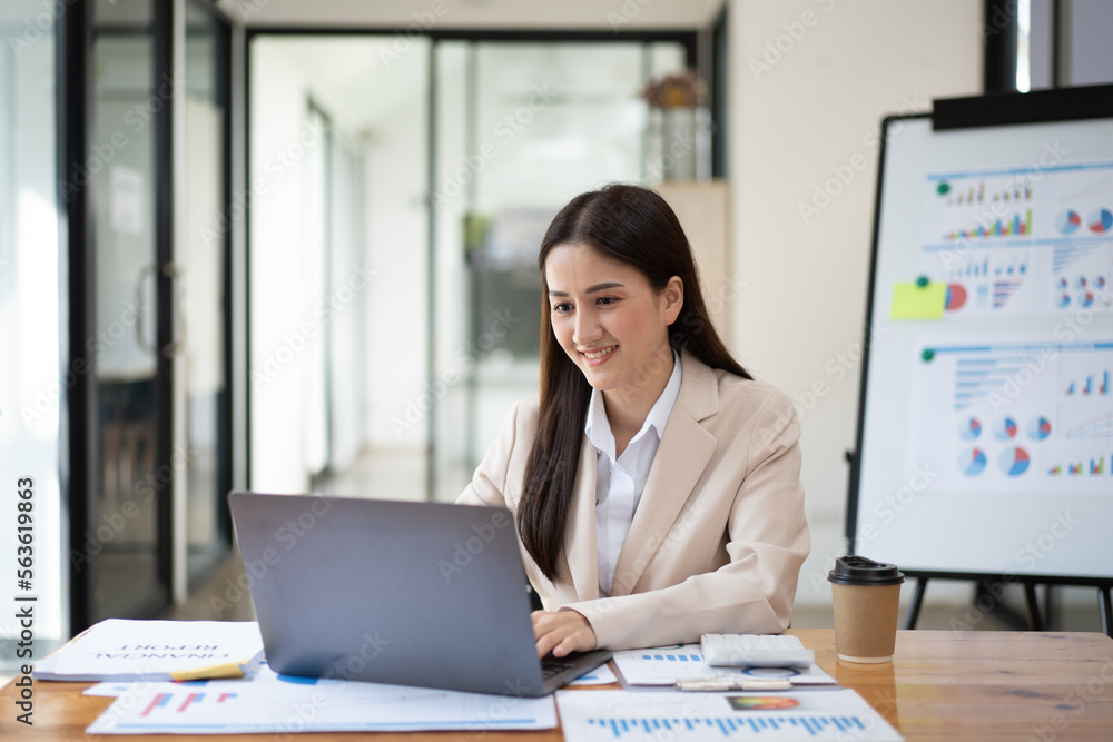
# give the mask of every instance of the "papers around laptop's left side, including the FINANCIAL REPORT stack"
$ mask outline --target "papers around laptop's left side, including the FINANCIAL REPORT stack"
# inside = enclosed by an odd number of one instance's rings
[[[552,696],[278,675],[263,659],[255,622],[102,621],[39,662],[35,677],[102,681],[86,694],[116,700],[89,725],[90,734],[556,726]],[[602,671],[594,682],[607,682]]]

